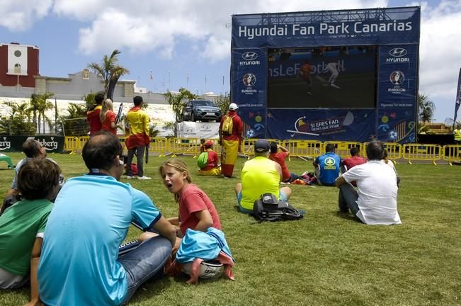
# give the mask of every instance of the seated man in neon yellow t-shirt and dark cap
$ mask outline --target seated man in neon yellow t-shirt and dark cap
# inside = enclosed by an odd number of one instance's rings
[[[254,159],[246,162],[241,169],[241,183],[235,186],[235,193],[241,212],[253,213],[253,203],[263,193],[273,193],[285,202],[291,196],[290,187],[280,188],[282,167],[268,159],[269,142],[257,140],[254,145]]]

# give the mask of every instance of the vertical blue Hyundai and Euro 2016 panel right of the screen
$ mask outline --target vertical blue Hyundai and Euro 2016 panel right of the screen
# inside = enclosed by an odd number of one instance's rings
[[[418,115],[418,46],[380,46],[377,139],[415,142]]]

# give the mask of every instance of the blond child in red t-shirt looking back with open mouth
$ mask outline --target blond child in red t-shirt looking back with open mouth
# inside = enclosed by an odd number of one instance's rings
[[[176,230],[178,239],[173,246],[173,254],[178,251],[186,229],[202,232],[206,232],[208,227],[221,229],[215,205],[205,192],[192,183],[187,166],[181,159],[169,159],[164,162],[159,168],[159,173],[164,185],[174,194],[179,204],[178,217],[169,218],[169,222],[179,229]]]

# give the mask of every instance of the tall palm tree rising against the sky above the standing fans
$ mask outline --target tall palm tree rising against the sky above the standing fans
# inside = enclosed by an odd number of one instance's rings
[[[110,57],[108,55],[104,55],[101,64],[92,62],[88,65],[89,68],[93,69],[93,71],[97,74],[101,74],[101,76],[103,77],[104,94],[106,98],[112,99],[113,91],[115,89],[115,85],[118,82],[118,79],[120,79],[120,77],[122,77],[124,74],[130,73],[128,69],[118,64],[117,56],[120,53],[121,52],[119,50],[113,50]]]

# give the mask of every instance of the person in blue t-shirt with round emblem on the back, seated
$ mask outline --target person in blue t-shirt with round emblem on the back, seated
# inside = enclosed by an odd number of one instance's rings
[[[325,154],[317,157],[312,163],[315,169],[317,183],[325,186],[334,186],[336,178],[339,176],[339,165],[341,157],[334,152],[333,144],[328,144],[325,147]]]

